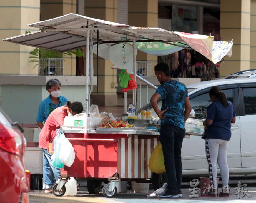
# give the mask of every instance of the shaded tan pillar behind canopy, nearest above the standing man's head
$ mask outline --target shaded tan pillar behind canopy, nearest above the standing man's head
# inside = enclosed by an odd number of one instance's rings
[[[158,27],[158,1],[129,0],[128,24],[136,27]],[[157,56],[138,51],[136,61],[151,61],[151,76],[154,76]]]

